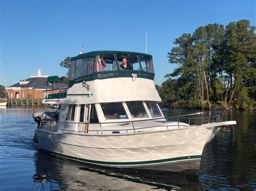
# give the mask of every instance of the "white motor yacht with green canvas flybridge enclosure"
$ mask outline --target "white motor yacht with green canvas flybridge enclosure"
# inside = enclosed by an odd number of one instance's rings
[[[168,121],[153,80],[149,54],[95,51],[71,58],[68,90],[48,89],[43,100],[58,108],[33,115],[34,141],[43,151],[92,165],[198,172],[204,146],[221,126],[236,122],[222,122],[212,111]],[[58,76],[48,83],[59,83]]]

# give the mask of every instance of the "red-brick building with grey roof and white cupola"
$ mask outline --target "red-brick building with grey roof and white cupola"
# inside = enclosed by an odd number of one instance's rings
[[[38,69],[36,76],[30,76],[26,80],[19,80],[18,83],[7,87],[9,98],[45,98],[47,89],[58,89],[68,87],[67,83],[47,83],[48,75],[41,75],[41,70]],[[58,93],[58,90],[53,90],[51,93]]]

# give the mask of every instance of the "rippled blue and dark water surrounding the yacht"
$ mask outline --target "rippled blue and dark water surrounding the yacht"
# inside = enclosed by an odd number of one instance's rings
[[[205,146],[200,174],[185,175],[105,169],[38,151],[32,114],[39,110],[0,108],[0,190],[256,189],[255,111],[235,111],[238,124]],[[164,109],[166,116],[191,112],[197,111]]]

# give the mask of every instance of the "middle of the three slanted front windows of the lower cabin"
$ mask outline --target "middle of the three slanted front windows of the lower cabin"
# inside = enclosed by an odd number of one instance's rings
[[[132,118],[147,118],[147,112],[142,101],[126,102],[127,107],[132,115]]]

